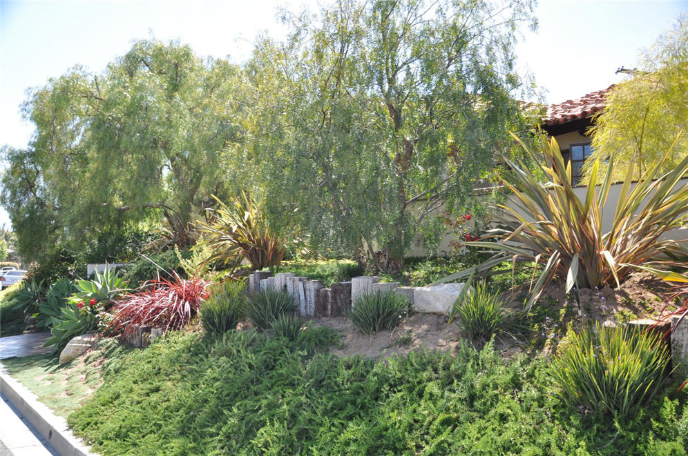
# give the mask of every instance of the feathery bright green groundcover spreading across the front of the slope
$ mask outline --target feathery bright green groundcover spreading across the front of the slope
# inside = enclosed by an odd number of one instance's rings
[[[686,393],[620,426],[548,395],[542,359],[491,344],[375,362],[316,353],[303,345],[314,338],[159,339],[68,422],[102,455],[686,454]]]

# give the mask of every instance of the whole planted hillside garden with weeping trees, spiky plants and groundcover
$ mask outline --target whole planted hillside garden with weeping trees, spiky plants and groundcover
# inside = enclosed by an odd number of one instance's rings
[[[688,311],[683,137],[639,179],[596,158],[578,197],[517,102],[533,5],[437,5],[287,15],[242,66],[137,41],[32,92],[0,330],[55,351],[9,373],[103,455],[687,454],[673,328],[631,324]],[[256,271],[466,286],[447,315],[381,290],[318,317]]]

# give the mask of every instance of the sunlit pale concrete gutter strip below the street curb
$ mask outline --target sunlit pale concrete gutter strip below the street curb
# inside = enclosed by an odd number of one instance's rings
[[[0,398],[0,456],[59,456],[4,395]]]

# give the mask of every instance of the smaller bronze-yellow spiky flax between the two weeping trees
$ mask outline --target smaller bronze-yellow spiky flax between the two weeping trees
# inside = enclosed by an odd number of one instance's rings
[[[208,261],[227,264],[245,258],[256,269],[278,266],[285,255],[284,243],[260,218],[254,199],[245,192],[241,200],[234,199],[229,205],[214,198],[218,207],[208,209],[210,221],[198,221],[200,247],[207,245],[213,249]]]

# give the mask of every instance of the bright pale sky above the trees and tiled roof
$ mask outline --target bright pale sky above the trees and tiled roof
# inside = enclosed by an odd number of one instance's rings
[[[247,59],[260,32],[285,32],[277,9],[314,10],[326,1],[0,1],[0,145],[26,146],[21,120],[26,89],[81,64],[98,72],[133,39],[180,39],[197,54]],[[621,80],[638,52],[688,12],[688,1],[541,0],[539,29],[517,48],[549,103],[580,97]],[[0,210],[0,224],[8,223]]]

